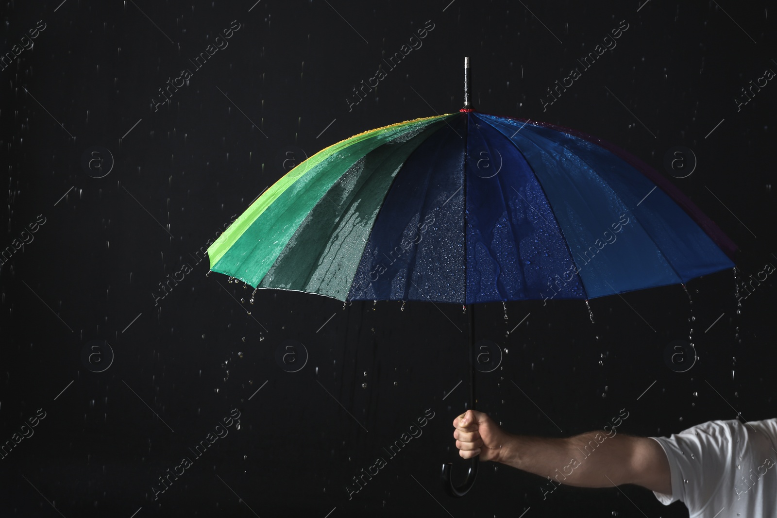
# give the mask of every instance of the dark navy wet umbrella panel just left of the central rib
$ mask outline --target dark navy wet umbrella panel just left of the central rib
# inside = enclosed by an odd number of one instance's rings
[[[465,301],[466,120],[456,118],[397,174],[361,257],[351,300]]]

